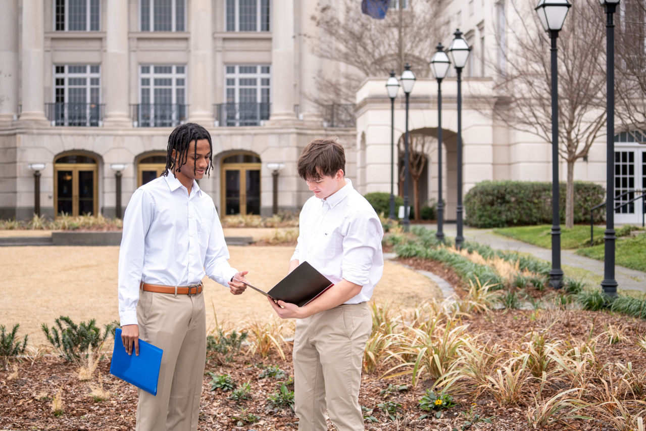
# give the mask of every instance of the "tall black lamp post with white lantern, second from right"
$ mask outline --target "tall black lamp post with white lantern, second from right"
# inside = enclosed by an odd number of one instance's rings
[[[570,8],[567,0],[540,0],[535,10],[545,28],[550,33],[552,47],[552,271],[550,284],[560,289],[563,284],[561,269],[561,216],[559,215],[559,107],[558,107],[558,68],[556,56],[556,38],[563,27],[563,22]]]

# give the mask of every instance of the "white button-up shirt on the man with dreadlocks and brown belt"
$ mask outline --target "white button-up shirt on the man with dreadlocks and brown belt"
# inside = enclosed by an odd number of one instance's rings
[[[121,326],[137,324],[140,282],[187,286],[204,275],[229,287],[238,272],[213,199],[193,181],[191,195],[169,172],[139,187],[125,210],[119,250]]]

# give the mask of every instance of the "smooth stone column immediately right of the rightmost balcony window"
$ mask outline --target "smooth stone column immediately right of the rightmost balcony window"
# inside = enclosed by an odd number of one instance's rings
[[[271,118],[292,121],[294,114],[294,0],[272,2]]]

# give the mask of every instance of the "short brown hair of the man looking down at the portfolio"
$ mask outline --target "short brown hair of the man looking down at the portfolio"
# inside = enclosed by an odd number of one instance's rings
[[[346,173],[346,152],[336,137],[313,140],[298,158],[298,175],[304,180],[335,176],[339,169]]]

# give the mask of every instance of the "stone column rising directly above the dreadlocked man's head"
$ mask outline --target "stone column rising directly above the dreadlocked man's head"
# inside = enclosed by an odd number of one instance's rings
[[[190,3],[189,121],[213,127],[213,24],[211,0]]]

